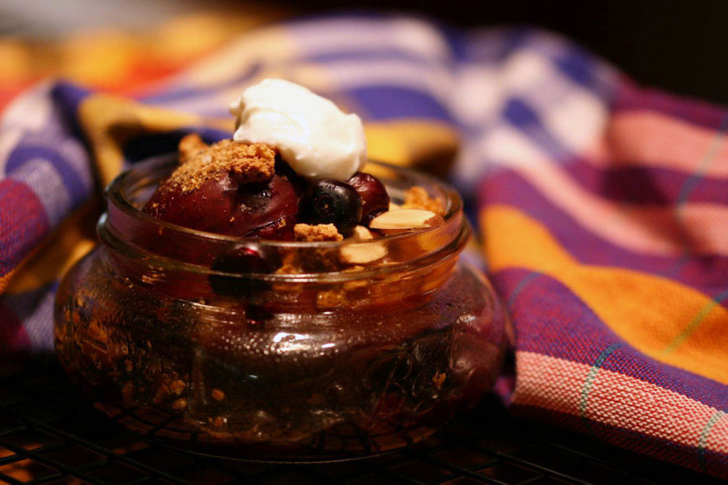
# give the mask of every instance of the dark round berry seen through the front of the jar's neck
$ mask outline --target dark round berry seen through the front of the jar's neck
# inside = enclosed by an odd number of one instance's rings
[[[264,251],[260,246],[250,244],[216,256],[211,269],[226,273],[269,274],[280,265],[277,253]],[[234,298],[249,297],[270,288],[266,281],[245,277],[210,275],[207,282],[216,294]]]

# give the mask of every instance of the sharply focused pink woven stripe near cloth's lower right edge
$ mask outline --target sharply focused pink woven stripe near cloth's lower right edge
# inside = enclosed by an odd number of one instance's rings
[[[717,409],[663,387],[587,364],[516,352],[513,403],[583,416],[688,446],[728,454],[728,419],[704,435]]]

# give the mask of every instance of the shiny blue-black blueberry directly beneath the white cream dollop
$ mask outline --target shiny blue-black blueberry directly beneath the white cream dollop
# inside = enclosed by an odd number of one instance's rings
[[[309,185],[301,199],[301,216],[308,224],[333,224],[344,237],[362,218],[362,203],[349,184],[324,178]]]

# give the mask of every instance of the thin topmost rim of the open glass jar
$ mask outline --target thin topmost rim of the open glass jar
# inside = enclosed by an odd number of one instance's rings
[[[127,216],[130,216],[132,218],[137,219],[138,221],[141,221],[146,224],[151,224],[155,226],[159,226],[164,228],[166,234],[185,234],[187,237],[195,237],[195,238],[202,238],[205,240],[210,241],[218,241],[221,243],[229,243],[229,244],[240,244],[243,242],[255,242],[256,245],[261,247],[268,247],[268,248],[312,248],[312,249],[325,249],[325,248],[340,248],[343,245],[370,245],[373,242],[385,242],[385,243],[404,243],[408,240],[416,240],[419,237],[422,237],[424,234],[432,234],[434,232],[438,232],[443,230],[444,226],[448,226],[448,224],[451,224],[454,219],[454,215],[462,213],[462,198],[460,197],[459,193],[449,184],[446,184],[446,182],[440,181],[440,179],[435,178],[433,176],[430,176],[426,173],[418,172],[416,170],[411,170],[409,168],[405,167],[397,167],[396,165],[392,165],[385,162],[377,162],[375,160],[370,160],[367,163],[368,167],[371,167],[372,165],[375,167],[381,167],[384,170],[392,170],[394,173],[403,175],[403,176],[409,176],[411,178],[420,179],[422,182],[431,184],[433,186],[437,186],[438,189],[440,189],[441,192],[443,192],[444,195],[446,195],[446,207],[447,212],[443,216],[443,219],[445,220],[445,224],[442,224],[440,226],[430,227],[427,229],[420,229],[415,232],[405,232],[403,234],[395,234],[390,235],[386,237],[379,238],[377,240],[373,241],[361,241],[361,242],[353,242],[353,241],[347,241],[347,240],[341,240],[341,241],[320,241],[320,242],[304,242],[304,241],[276,241],[276,240],[264,240],[264,239],[258,239],[254,237],[238,237],[238,236],[228,236],[225,234],[216,234],[214,232],[206,232],[206,231],[199,231],[197,229],[190,229],[188,227],[184,226],[178,226],[177,224],[172,224],[167,221],[159,220],[158,218],[155,218],[154,216],[150,216],[147,213],[143,213],[140,209],[136,208],[135,205],[130,201],[127,197],[127,194],[125,194],[124,189],[127,188],[127,185],[130,183],[130,179],[134,178],[135,176],[140,176],[143,178],[143,173],[146,170],[149,170],[150,167],[153,167],[154,165],[159,165],[162,162],[169,162],[170,159],[177,159],[177,154],[174,152],[167,153],[167,154],[161,154],[157,155],[155,157],[150,157],[148,159],[144,159],[141,162],[136,162],[129,170],[125,170],[124,172],[120,173],[119,176],[116,176],[113,181],[111,181],[110,184],[106,187],[106,196],[108,197],[108,202],[113,203],[116,208],[119,210],[122,210],[124,213],[127,214]],[[372,165],[370,165],[372,164]]]

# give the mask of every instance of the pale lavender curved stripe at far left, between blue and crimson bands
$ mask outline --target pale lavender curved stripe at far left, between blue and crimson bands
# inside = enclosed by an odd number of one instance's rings
[[[41,158],[23,163],[8,174],[28,185],[39,198],[50,226],[55,226],[71,209],[71,195],[53,164]]]

